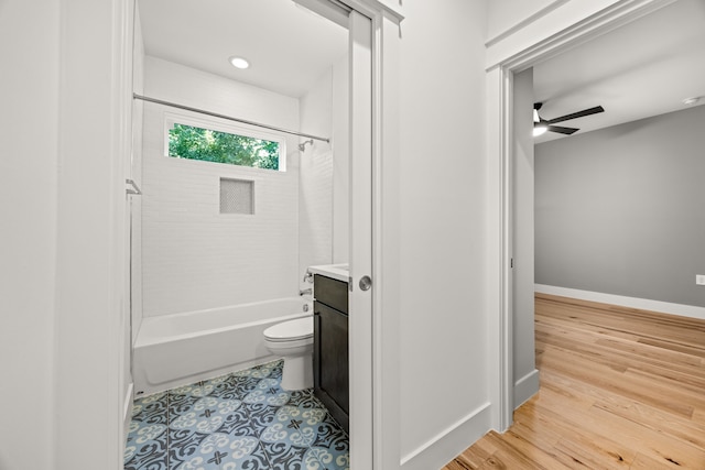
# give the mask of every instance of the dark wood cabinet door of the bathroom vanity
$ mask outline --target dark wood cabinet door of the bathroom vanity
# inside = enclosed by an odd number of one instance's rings
[[[316,389],[348,414],[348,316],[321,303],[316,303],[314,314]]]

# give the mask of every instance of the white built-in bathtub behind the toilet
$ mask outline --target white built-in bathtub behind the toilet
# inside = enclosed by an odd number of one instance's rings
[[[275,359],[268,327],[313,314],[311,298],[291,297],[147,317],[134,342],[135,395],[151,394]]]

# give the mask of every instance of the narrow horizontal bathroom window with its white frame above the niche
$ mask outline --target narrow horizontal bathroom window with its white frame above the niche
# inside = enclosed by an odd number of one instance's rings
[[[165,150],[167,156],[175,159],[285,170],[283,138],[218,122],[167,118]]]

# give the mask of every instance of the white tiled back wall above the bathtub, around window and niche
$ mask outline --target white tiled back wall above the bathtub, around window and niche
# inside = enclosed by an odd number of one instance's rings
[[[297,99],[164,61],[148,57],[145,65],[148,96],[283,128],[299,127]],[[253,112],[256,102],[260,105]],[[169,157],[164,156],[165,112],[175,111],[144,105],[144,316],[296,295],[296,139],[288,139],[286,172]],[[253,182],[253,216],[220,214],[220,178]]]

